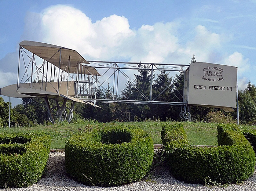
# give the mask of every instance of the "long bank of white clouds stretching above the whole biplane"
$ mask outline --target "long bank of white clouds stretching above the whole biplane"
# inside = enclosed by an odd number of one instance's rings
[[[229,55],[223,50],[227,34],[197,25],[188,31],[186,36],[190,39],[184,43],[180,22],[143,24],[136,30],[130,29],[124,16],[110,15],[93,23],[79,9],[55,5],[41,13],[28,14],[23,38],[77,50],[87,60],[189,64],[195,55],[198,62],[237,66],[243,81],[249,61],[239,52]]]

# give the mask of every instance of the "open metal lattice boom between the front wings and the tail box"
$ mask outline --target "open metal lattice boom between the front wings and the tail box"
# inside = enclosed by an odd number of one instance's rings
[[[183,67],[187,67],[189,65],[182,64],[159,64],[159,63],[136,63],[136,62],[112,62],[112,61],[88,61],[89,63],[94,64],[94,68],[97,69],[102,76],[96,79],[93,76],[95,83],[94,88],[97,91],[97,85],[106,90],[106,83],[112,82],[112,91],[113,97],[112,99],[98,99],[98,98],[89,98],[89,97],[79,97],[81,100],[85,101],[94,101],[94,102],[123,102],[123,103],[135,103],[135,104],[170,104],[170,105],[185,105],[186,102],[172,102],[169,101],[157,101],[157,98],[167,89],[173,88],[172,85],[175,83],[175,80],[170,84],[165,84],[165,88],[159,93],[156,97],[152,97],[153,90],[153,75],[159,74],[159,71],[167,71],[173,72],[173,74],[177,74],[177,72],[184,72]],[[143,68],[142,66],[147,65],[147,68]],[[129,76],[129,72],[127,71],[140,71],[147,70],[150,75],[150,94],[147,97],[142,90],[138,87],[135,87],[137,91],[142,95],[143,100],[122,100],[120,99],[120,95],[123,93],[125,89],[119,90],[120,86],[124,87],[124,82],[130,81],[132,85],[136,85],[135,79],[131,79],[131,75]],[[134,75],[134,72],[132,73]],[[183,75],[183,74],[182,74]],[[107,79],[104,77],[107,77]],[[120,82],[121,81],[121,82]],[[121,83],[121,85],[120,85]],[[79,95],[78,95],[79,96]],[[182,96],[182,95],[181,95]]]

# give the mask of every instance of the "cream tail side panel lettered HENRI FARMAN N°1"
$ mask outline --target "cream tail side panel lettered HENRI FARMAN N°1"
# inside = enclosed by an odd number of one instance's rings
[[[193,63],[188,72],[188,104],[236,107],[237,67]]]

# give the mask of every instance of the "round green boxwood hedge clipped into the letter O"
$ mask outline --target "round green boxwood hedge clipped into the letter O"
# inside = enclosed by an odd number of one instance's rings
[[[65,153],[66,170],[74,180],[86,185],[118,186],[147,174],[154,147],[145,131],[120,125],[74,135]]]

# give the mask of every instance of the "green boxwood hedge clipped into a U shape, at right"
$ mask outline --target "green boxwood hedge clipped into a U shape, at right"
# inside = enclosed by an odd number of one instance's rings
[[[171,174],[187,183],[238,183],[254,172],[255,153],[235,125],[218,125],[217,147],[188,144],[181,124],[164,126],[162,140]]]

